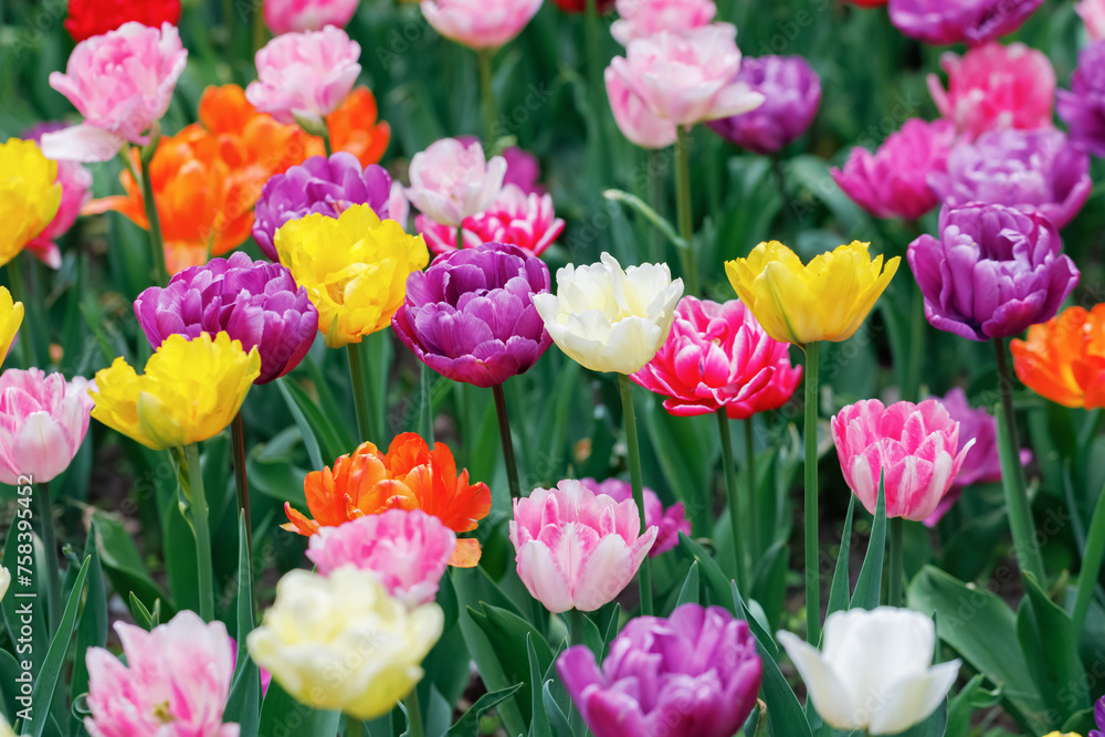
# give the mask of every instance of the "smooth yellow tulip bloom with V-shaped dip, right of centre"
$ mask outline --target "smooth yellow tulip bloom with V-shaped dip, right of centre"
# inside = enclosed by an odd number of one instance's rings
[[[778,241],[760,243],[746,259],[725,263],[737,296],[776,340],[804,346],[848,340],[897,272],[901,257],[872,261],[867,243],[853,241],[803,265]]]

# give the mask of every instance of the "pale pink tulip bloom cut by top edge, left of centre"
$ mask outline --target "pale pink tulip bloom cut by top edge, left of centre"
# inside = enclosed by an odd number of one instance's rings
[[[427,22],[469,49],[498,49],[540,9],[541,0],[422,0]]]

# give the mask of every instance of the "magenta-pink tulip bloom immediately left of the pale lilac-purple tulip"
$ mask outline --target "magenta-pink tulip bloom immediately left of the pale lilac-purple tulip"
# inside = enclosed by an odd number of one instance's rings
[[[876,218],[917,220],[939,203],[928,176],[947,168],[955,143],[947,120],[906,120],[872,154],[855,147],[832,178],[853,202]]]

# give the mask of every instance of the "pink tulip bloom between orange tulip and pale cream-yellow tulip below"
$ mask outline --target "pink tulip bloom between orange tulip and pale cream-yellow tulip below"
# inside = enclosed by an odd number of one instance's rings
[[[388,509],[311,536],[307,557],[329,576],[341,566],[377,575],[388,592],[409,607],[433,601],[456,535],[421,509]]]

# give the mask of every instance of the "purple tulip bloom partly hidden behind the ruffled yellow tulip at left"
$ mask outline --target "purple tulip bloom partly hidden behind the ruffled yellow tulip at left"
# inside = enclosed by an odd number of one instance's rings
[[[318,333],[318,310],[292,272],[242,252],[186,269],[165,288],[149,287],[135,299],[135,315],[154,349],[175,333],[194,338],[225,331],[245,350],[256,346],[261,376],[254,383],[298,366]]]

